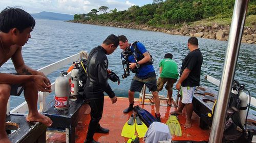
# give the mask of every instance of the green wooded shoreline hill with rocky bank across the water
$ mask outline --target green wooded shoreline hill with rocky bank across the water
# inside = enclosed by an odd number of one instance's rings
[[[233,0],[153,0],[152,4],[124,11],[101,6],[87,14],[75,14],[69,22],[227,41],[233,6]],[[256,43],[256,1],[249,2],[242,42]]]

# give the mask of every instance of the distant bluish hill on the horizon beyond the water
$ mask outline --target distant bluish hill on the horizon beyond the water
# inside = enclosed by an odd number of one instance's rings
[[[40,13],[31,13],[31,15],[34,18],[39,18],[39,19],[51,19],[51,20],[73,20],[74,16],[70,14],[61,14],[61,13],[54,13],[54,12],[40,12]]]

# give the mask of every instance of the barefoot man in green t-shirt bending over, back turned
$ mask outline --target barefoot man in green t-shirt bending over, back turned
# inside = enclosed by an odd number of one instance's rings
[[[157,80],[157,90],[161,91],[163,85],[166,83],[165,89],[167,90],[168,100],[167,104],[172,105],[172,96],[173,96],[173,85],[177,81],[178,66],[173,59],[172,53],[166,53],[164,59],[159,63],[159,73],[160,77]]]

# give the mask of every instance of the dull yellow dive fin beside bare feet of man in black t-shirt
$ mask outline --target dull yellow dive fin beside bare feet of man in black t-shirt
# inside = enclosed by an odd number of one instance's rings
[[[182,131],[180,127],[180,123],[175,115],[170,115],[169,119],[166,121],[166,125],[168,125],[170,134],[176,136],[182,136]]]

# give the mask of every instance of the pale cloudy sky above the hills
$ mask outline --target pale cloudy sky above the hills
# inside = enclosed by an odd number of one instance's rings
[[[19,6],[28,13],[49,11],[74,15],[88,13],[100,6],[109,7],[109,10],[116,8],[117,11],[121,11],[127,10],[133,5],[141,7],[152,3],[153,0],[0,0],[0,9],[2,11],[7,6]]]

